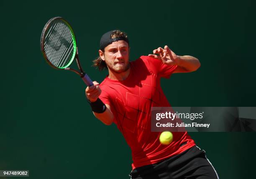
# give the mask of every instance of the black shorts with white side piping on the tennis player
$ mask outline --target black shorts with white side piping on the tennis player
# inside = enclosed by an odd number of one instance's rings
[[[217,172],[197,146],[156,164],[131,171],[131,179],[219,179]]]

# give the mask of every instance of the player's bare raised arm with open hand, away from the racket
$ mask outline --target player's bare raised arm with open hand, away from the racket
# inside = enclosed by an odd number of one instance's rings
[[[192,71],[196,71],[200,67],[200,62],[197,58],[184,55],[178,56],[176,55],[167,45],[164,48],[157,48],[153,50],[154,54],[149,54],[153,58],[157,58],[161,60],[166,65],[177,65],[177,68],[173,73],[188,73]]]

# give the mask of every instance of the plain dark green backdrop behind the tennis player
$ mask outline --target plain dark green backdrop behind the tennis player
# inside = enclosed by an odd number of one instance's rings
[[[131,151],[116,126],[93,116],[76,74],[44,61],[40,36],[50,18],[71,23],[95,81],[106,75],[91,67],[100,37],[120,29],[131,60],[164,45],[200,60],[198,71],[161,82],[172,106],[256,106],[255,9],[253,0],[2,2],[0,170],[29,170],[33,179],[129,178]],[[256,133],[189,134],[221,179],[254,175]]]

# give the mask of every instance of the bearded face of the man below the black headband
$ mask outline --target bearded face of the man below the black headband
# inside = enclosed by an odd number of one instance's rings
[[[100,54],[100,57],[103,57],[102,60],[115,73],[122,73],[129,69],[129,45],[124,40],[115,41],[105,47],[102,55]]]

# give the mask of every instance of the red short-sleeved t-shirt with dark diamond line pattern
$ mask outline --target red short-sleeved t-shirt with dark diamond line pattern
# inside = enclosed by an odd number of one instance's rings
[[[108,76],[100,84],[100,99],[110,105],[114,123],[131,147],[135,169],[154,164],[195,146],[187,132],[172,132],[173,142],[159,142],[161,132],[151,132],[151,107],[169,107],[160,86],[160,78],[169,78],[177,66],[141,56],[130,62],[131,71],[123,81]],[[185,145],[180,146],[183,143]]]

